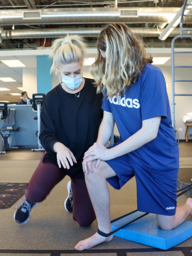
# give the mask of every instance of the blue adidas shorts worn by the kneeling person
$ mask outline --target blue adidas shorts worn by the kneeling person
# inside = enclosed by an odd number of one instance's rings
[[[115,147],[114,144],[112,147]],[[140,212],[150,212],[162,215],[175,215],[177,206],[178,169],[169,175],[163,175],[157,170],[143,169],[131,159],[131,154],[105,161],[117,176],[108,178],[108,183],[115,189],[120,189],[132,177],[137,183],[137,207]],[[127,195],[131,196],[131,195]]]

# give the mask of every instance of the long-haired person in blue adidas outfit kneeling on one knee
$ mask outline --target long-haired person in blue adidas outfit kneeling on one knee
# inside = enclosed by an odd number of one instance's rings
[[[84,155],[83,168],[99,229],[107,234],[112,231],[106,180],[120,189],[133,176],[138,210],[156,213],[161,229],[176,228],[192,215],[192,198],[177,207],[179,148],[171,126],[164,76],[151,64],[152,57],[146,57],[142,42],[124,24],[104,28],[98,50],[92,75],[98,92],[105,92],[104,117],[96,143]],[[114,122],[121,140],[105,148]],[[82,251],[112,238],[96,233],[75,248]]]

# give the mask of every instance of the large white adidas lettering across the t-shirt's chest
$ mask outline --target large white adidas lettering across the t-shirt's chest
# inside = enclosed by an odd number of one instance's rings
[[[121,105],[123,107],[128,108],[140,108],[138,99],[125,99],[125,97],[121,98],[121,96],[113,96],[113,98],[109,98],[109,102],[115,105]]]

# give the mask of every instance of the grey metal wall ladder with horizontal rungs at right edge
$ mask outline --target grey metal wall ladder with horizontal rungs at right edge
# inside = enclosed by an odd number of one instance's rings
[[[183,31],[192,31],[192,29],[183,29],[183,17],[185,16],[192,16],[192,14],[184,14],[186,6],[192,5],[187,4],[188,0],[184,1],[182,13],[181,13],[181,20],[180,20],[180,36],[175,36],[172,40],[171,48],[172,48],[172,127],[175,130],[175,96],[192,96],[192,94],[182,94],[182,93],[175,93],[175,82],[192,82],[192,80],[185,80],[185,79],[175,79],[175,68],[192,68],[192,66],[183,66],[183,65],[175,65],[175,54],[179,53],[189,53],[192,54],[192,51],[188,52],[180,52],[175,51],[175,41],[179,38],[191,38],[191,36],[183,36]]]

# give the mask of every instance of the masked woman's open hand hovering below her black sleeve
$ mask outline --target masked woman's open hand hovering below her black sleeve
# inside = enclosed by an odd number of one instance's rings
[[[61,168],[61,164],[62,164],[65,169],[66,168],[69,169],[70,168],[69,163],[71,166],[73,166],[73,162],[77,163],[73,153],[67,147],[65,147],[65,145],[63,145],[62,143],[60,142],[54,143],[53,150],[57,153],[57,163],[59,165],[59,168]]]

